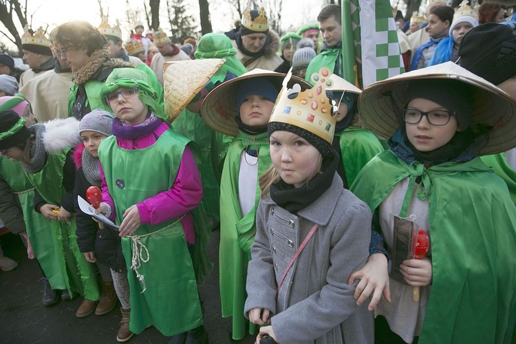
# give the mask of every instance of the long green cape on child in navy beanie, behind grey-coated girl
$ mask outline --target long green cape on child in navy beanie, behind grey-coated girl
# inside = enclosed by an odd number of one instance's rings
[[[250,247],[255,241],[256,208],[261,191],[256,185],[255,208],[242,216],[238,199],[238,177],[242,151],[251,145],[258,153],[258,177],[270,166],[269,140],[267,133],[250,136],[239,131],[228,149],[220,184],[220,301],[222,316],[233,316],[233,339],[246,335],[244,303],[246,301],[247,266]],[[250,334],[255,326],[250,324]]]

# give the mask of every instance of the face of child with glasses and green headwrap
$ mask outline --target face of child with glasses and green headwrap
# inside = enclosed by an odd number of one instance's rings
[[[147,118],[149,107],[142,103],[138,89],[119,88],[106,95],[108,105],[118,119],[127,125],[139,125]]]

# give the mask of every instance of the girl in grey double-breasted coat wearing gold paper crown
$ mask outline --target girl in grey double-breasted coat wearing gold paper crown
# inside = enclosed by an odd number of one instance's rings
[[[373,343],[372,314],[345,282],[367,261],[371,213],[336,173],[328,76],[321,68],[305,92],[287,89],[287,76],[268,123],[272,166],[259,181],[246,285],[246,316],[268,324],[257,343]]]

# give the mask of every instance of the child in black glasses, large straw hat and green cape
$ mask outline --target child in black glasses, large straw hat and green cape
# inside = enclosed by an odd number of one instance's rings
[[[359,108],[390,149],[365,165],[351,190],[378,213],[391,258],[402,253],[398,222],[430,240],[427,257],[393,263],[391,303],[380,300],[376,314],[407,343],[509,343],[516,208],[479,156],[516,146],[516,103],[448,62],[370,85]]]

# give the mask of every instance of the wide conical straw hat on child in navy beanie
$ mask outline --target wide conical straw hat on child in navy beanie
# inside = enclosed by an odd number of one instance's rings
[[[272,85],[281,91],[281,83],[287,74],[272,72],[270,70],[255,68],[252,71],[242,74],[238,78],[226,81],[215,87],[204,98],[201,107],[202,120],[213,130],[218,131],[229,136],[238,135],[238,126],[235,122],[235,116],[238,116],[237,111],[237,89],[242,80],[249,78],[265,78]],[[301,86],[301,91],[312,88],[312,84],[308,81],[292,76],[288,82],[288,87],[294,84]]]

